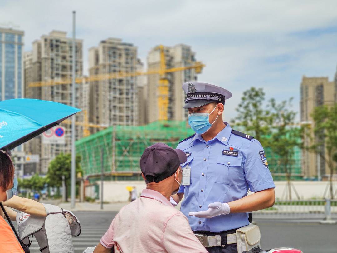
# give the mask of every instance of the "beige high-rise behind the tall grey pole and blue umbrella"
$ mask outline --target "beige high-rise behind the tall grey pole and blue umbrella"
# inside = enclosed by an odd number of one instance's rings
[[[75,77],[83,75],[82,40],[76,39],[75,47]],[[51,100],[72,106],[71,82],[72,82],[72,38],[66,36],[66,32],[53,30],[48,35],[42,35],[40,39],[33,41],[32,52],[25,54],[25,87],[27,97]],[[69,80],[69,84],[29,87],[29,83],[51,80]],[[76,84],[75,107],[79,107],[80,86]],[[81,108],[80,108],[81,109]],[[52,112],[51,112],[52,113]],[[76,114],[79,121],[80,114]],[[41,136],[28,142],[26,152],[40,155],[39,173],[46,173],[49,163],[60,153],[71,152],[71,125],[61,123],[65,128],[65,144],[45,144]],[[83,136],[83,127],[76,126],[75,138]]]

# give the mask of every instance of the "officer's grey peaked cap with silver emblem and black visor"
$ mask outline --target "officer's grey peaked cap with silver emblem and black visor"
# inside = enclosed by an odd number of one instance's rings
[[[187,82],[183,84],[183,90],[186,93],[184,108],[194,108],[209,103],[222,103],[232,96],[228,90],[208,84],[198,82]]]

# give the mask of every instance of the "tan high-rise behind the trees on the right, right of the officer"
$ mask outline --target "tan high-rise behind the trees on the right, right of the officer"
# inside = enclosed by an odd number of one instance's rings
[[[313,129],[312,113],[314,108],[321,105],[333,105],[334,103],[334,83],[329,82],[328,77],[305,77],[301,83],[301,101],[300,101],[300,118],[301,122],[311,124]],[[313,133],[311,133],[312,136]],[[311,145],[310,139],[305,138],[304,144]],[[322,150],[325,150],[324,146]],[[328,174],[323,159],[308,150],[303,150],[303,175],[305,177],[321,178]]]

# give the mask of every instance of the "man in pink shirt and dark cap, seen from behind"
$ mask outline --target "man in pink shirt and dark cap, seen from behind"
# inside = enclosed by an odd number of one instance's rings
[[[182,182],[180,164],[186,161],[182,150],[164,143],[146,148],[140,167],[147,187],[120,210],[94,253],[207,253],[186,216],[170,203]]]

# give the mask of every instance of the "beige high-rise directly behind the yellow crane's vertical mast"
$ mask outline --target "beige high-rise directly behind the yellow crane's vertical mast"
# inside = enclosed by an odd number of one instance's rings
[[[164,47],[165,65],[166,68],[175,68],[192,65],[196,62],[195,53],[190,46],[179,44],[173,47]],[[148,70],[160,69],[160,49],[153,48],[147,57]],[[187,81],[195,81],[196,74],[194,69],[186,69],[184,71],[172,72],[165,74],[168,80],[168,108],[167,119],[169,120],[184,120],[186,119],[186,110],[183,109],[185,94],[182,89],[182,84]],[[160,76],[149,75],[147,85],[147,123],[159,119],[158,110],[158,84]]]

